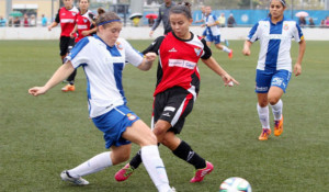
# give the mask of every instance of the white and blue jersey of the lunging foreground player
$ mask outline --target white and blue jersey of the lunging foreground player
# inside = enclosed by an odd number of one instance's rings
[[[128,42],[118,38],[107,46],[99,36],[82,38],[67,56],[75,68],[83,67],[87,77],[89,115],[95,117],[114,106],[126,104],[122,71],[126,61],[139,66],[143,55]]]

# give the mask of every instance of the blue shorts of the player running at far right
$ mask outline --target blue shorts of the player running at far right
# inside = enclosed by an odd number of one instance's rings
[[[257,69],[254,92],[266,93],[272,86],[279,87],[285,92],[291,77],[292,72],[288,70],[266,71]]]

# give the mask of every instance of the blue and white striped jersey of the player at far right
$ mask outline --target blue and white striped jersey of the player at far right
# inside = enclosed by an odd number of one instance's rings
[[[257,69],[292,71],[291,46],[292,38],[296,42],[304,39],[299,25],[292,20],[283,18],[273,24],[271,18],[259,21],[247,37],[250,42],[260,39],[260,54]]]

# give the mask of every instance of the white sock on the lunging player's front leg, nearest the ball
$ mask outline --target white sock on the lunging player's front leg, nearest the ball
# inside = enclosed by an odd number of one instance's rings
[[[158,146],[149,145],[141,147],[141,160],[158,191],[169,191],[169,181],[163,161],[159,155]]]

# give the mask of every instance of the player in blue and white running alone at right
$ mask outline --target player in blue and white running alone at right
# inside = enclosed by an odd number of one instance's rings
[[[260,39],[260,54],[257,65],[256,92],[258,95],[258,115],[262,125],[260,140],[266,140],[271,134],[269,106],[274,116],[274,135],[283,132],[283,102],[281,97],[292,75],[291,46],[292,38],[299,43],[299,53],[294,66],[294,74],[302,74],[302,60],[305,53],[305,39],[300,27],[295,21],[284,16],[285,0],[271,0],[270,16],[259,21],[250,31],[242,53],[250,55],[253,42]]]

